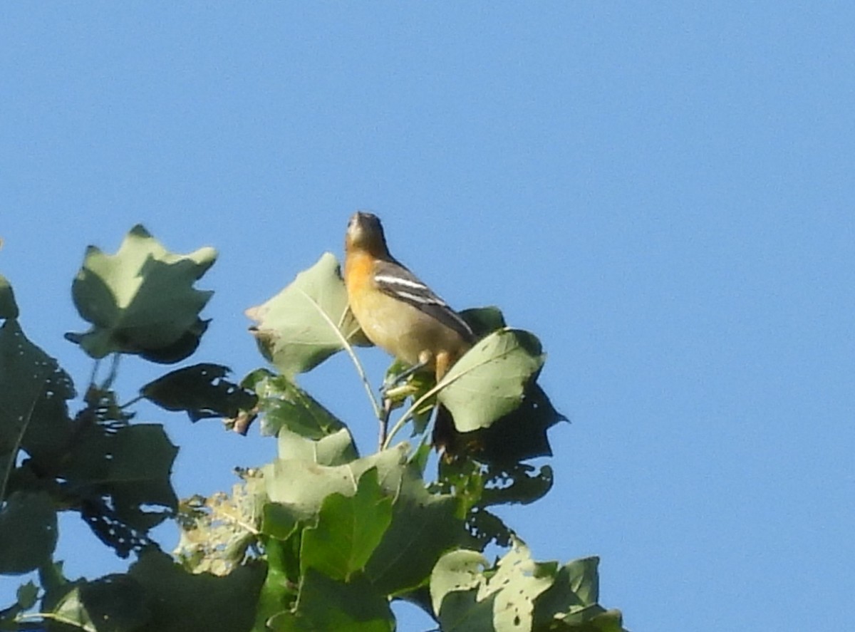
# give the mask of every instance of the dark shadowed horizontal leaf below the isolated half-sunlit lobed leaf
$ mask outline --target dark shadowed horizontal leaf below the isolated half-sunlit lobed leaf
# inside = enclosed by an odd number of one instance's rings
[[[255,406],[257,397],[224,379],[228,373],[221,364],[194,364],[150,381],[139,393],[167,411],[185,411],[192,422],[234,417]]]

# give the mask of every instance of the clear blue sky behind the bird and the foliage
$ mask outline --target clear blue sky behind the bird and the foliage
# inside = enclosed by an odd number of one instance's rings
[[[243,310],[373,210],[452,305],[497,304],[549,353],[573,420],[551,434],[556,486],[505,514],[537,558],[602,556],[601,600],[635,632],[840,629],[853,30],[847,3],[6,4],[0,271],[83,382],[62,334],[84,328],[85,246],[138,222],[174,251],[213,245],[196,357],[240,376],[262,364]],[[379,381],[386,357],[363,355]],[[119,387],[161,372],[132,359]],[[373,445],[344,358],[303,383]],[[182,495],[274,455],[140,419],[181,446]],[[121,569],[62,529],[69,574]]]

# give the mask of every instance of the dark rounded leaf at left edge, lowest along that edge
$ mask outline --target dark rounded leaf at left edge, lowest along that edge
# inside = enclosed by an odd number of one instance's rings
[[[16,492],[0,508],[0,574],[21,575],[50,561],[56,509],[46,493]]]

